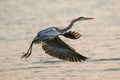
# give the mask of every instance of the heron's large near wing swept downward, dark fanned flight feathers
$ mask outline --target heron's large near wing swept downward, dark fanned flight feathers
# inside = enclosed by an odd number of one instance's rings
[[[50,56],[71,62],[79,62],[87,59],[87,57],[78,54],[73,48],[63,42],[59,37],[55,37],[49,41],[42,42],[42,48],[45,53],[49,54]]]

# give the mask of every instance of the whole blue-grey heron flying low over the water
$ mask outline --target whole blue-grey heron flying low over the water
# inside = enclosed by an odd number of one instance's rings
[[[87,59],[87,57],[79,54],[75,51],[72,47],[66,44],[63,40],[60,39],[60,35],[69,38],[69,39],[78,39],[80,38],[80,33],[75,31],[68,31],[72,28],[73,24],[77,21],[83,20],[91,20],[93,18],[86,18],[86,17],[79,17],[73,19],[71,23],[63,29],[59,29],[57,27],[50,27],[38,32],[37,36],[31,42],[31,45],[27,51],[24,53],[21,58],[28,58],[32,53],[32,46],[33,44],[42,44],[42,49],[45,53],[49,54],[50,56],[71,61],[71,62],[81,62]],[[68,31],[68,32],[67,32]]]

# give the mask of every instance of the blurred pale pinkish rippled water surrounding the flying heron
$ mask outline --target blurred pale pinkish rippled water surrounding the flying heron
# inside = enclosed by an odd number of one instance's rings
[[[119,80],[120,0],[0,0],[0,80]],[[51,57],[41,45],[20,59],[36,34],[48,27],[64,28],[74,18],[78,40],[62,37],[89,57],[73,63]]]

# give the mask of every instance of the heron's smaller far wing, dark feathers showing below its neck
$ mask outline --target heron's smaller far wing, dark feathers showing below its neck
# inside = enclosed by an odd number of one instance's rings
[[[81,37],[81,34],[75,31],[69,31],[69,32],[65,32],[64,34],[62,34],[64,37],[66,38],[70,38],[70,39],[78,39]]]

